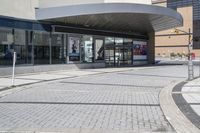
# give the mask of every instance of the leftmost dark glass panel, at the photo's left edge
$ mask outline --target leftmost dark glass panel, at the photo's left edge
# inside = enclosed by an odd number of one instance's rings
[[[12,29],[0,28],[0,65],[11,65],[13,52]]]

